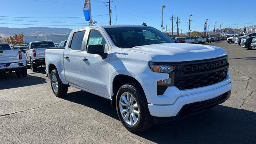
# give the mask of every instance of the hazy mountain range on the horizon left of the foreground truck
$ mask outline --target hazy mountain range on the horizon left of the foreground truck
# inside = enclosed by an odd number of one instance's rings
[[[57,35],[57,34],[70,34],[72,29],[69,28],[46,28],[46,27],[33,27],[33,28],[5,28],[0,27],[0,36],[13,36],[14,34],[24,34],[24,36],[42,36],[42,35]]]

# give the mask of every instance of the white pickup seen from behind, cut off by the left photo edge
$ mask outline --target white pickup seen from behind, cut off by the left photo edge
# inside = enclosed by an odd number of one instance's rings
[[[26,76],[26,58],[20,50],[12,50],[8,43],[0,43],[0,74],[16,72],[16,76]]]

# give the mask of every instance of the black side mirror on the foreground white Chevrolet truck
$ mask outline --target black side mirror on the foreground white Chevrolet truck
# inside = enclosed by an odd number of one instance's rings
[[[108,54],[105,53],[104,47],[102,44],[88,45],[87,46],[88,54],[98,54],[104,60],[107,58]]]

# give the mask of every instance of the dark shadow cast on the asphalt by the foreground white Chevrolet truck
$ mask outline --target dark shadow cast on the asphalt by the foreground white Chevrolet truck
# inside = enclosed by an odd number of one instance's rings
[[[118,119],[110,100],[84,91],[68,93],[63,99],[93,108]],[[216,106],[204,113],[170,124],[154,125],[151,129],[136,134],[159,144],[205,143],[205,144],[250,144],[256,143],[256,118],[252,111]]]

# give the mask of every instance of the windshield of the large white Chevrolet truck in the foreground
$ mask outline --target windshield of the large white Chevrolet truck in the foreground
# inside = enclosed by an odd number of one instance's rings
[[[106,31],[114,44],[120,48],[174,43],[169,36],[152,27],[106,28]]]

